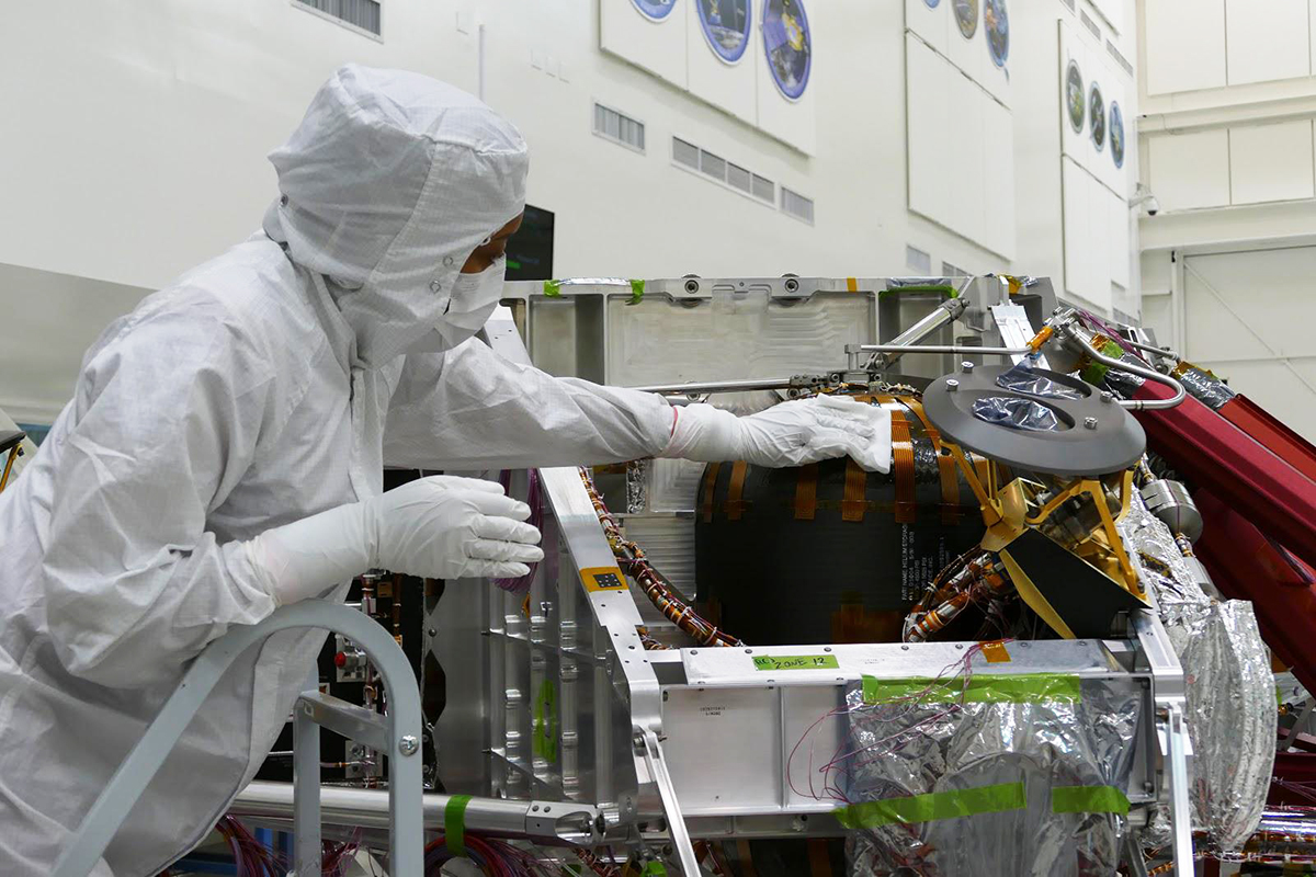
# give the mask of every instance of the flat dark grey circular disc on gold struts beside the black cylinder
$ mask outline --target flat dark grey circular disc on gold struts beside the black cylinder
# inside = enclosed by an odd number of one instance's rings
[[[1105,475],[1126,469],[1146,450],[1142,425],[1119,406],[1101,401],[1101,392],[1076,377],[1042,368],[1038,376],[1078,391],[1082,398],[1032,396],[996,385],[1011,366],[979,366],[970,373],[938,377],[924,392],[928,419],[950,440],[1024,472],[1049,475]],[[955,391],[950,380],[959,381]],[[974,401],[987,397],[1026,398],[1049,408],[1059,423],[1051,433],[1012,429],[979,419]],[[1095,418],[1095,429],[1084,426]]]

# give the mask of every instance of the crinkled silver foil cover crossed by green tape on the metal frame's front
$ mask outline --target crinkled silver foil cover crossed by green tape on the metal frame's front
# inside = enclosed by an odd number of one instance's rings
[[[1138,692],[1107,680],[1016,678],[1029,681],[962,703],[958,678],[915,698],[850,686],[853,803],[841,819],[851,828],[851,874],[1116,872]]]

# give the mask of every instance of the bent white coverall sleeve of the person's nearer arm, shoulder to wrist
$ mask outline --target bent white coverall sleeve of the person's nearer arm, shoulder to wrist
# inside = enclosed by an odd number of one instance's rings
[[[93,682],[174,680],[275,602],[207,514],[249,467],[271,375],[217,302],[147,310],[83,364],[41,565],[59,660]]]

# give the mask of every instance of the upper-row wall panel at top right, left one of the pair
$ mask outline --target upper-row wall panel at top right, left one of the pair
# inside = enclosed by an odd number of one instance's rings
[[[1148,95],[1227,84],[1225,0],[1152,0],[1142,8]]]

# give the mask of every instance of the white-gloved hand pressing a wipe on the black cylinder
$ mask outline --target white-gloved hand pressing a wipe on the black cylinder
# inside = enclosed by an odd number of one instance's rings
[[[712,405],[676,409],[662,456],[746,460],[783,467],[850,455],[870,472],[891,471],[891,412],[849,396],[816,396],[736,417]]]

